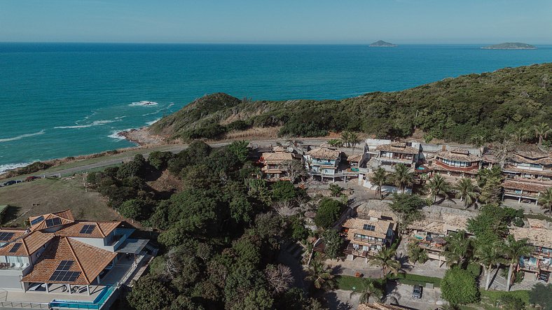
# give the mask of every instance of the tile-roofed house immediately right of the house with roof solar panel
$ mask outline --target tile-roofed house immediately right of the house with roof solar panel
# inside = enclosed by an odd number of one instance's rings
[[[467,216],[445,215],[442,218],[416,220],[408,225],[408,241],[425,249],[427,257],[439,260],[441,265],[446,262],[442,255],[446,246],[445,237],[452,232],[466,230],[468,219]]]

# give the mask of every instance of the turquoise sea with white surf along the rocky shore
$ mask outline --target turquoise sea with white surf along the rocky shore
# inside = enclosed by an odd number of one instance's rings
[[[552,46],[480,47],[0,43],[0,170],[132,146],[113,134],[211,92],[340,99],[552,62]]]

